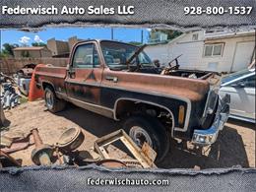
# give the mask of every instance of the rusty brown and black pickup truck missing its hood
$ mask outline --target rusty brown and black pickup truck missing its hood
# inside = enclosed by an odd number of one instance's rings
[[[74,45],[67,67],[36,67],[48,110],[63,110],[68,101],[121,121],[138,146],[147,142],[156,150],[158,161],[170,138],[213,144],[227,120],[229,96],[218,95],[213,74],[161,69],[144,47],[87,40]]]

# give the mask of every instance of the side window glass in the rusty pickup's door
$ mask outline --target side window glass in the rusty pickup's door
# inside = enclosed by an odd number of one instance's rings
[[[73,57],[74,68],[93,68],[94,66],[99,67],[99,65],[98,55],[93,43],[83,44],[76,48]]]

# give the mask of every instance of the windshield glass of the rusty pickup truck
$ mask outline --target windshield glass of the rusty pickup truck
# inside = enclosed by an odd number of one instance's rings
[[[101,41],[100,45],[107,66],[121,69],[127,69],[127,60],[139,48],[138,46],[112,41]],[[143,51],[129,63],[130,66],[136,66],[137,64],[142,67],[154,66],[150,57]]]

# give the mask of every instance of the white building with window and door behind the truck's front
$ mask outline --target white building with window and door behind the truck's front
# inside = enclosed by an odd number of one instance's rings
[[[255,32],[185,32],[165,44],[149,45],[145,51],[163,65],[182,54],[178,58],[182,69],[239,71],[255,59]]]

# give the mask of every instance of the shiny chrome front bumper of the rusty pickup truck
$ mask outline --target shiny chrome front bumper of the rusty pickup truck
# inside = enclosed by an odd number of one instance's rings
[[[192,137],[192,143],[200,146],[208,146],[216,142],[219,131],[223,130],[224,123],[229,115],[230,96],[225,95],[219,98],[216,117],[213,125],[206,130],[195,129]]]

